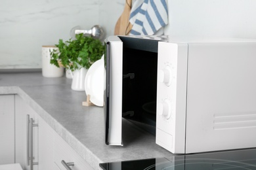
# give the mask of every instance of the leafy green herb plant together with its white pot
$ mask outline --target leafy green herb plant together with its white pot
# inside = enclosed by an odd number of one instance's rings
[[[75,38],[65,42],[60,39],[58,44],[55,44],[58,49],[51,52],[51,63],[74,71],[72,89],[81,91],[84,90],[83,84],[87,69],[102,57],[104,45],[98,39],[86,37],[83,33],[75,35]],[[77,80],[78,77],[83,77],[83,79]]]

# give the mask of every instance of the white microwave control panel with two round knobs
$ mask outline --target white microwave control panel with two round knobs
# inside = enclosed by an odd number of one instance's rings
[[[156,143],[185,153],[187,44],[159,42]]]

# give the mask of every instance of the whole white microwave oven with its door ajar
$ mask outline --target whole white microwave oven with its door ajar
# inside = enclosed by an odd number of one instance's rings
[[[174,154],[256,147],[256,41],[111,36],[105,44],[106,144],[123,145],[127,118],[152,127]]]

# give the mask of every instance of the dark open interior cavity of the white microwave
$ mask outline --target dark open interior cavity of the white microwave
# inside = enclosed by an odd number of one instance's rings
[[[123,118],[155,135],[158,41],[119,38],[123,42]]]

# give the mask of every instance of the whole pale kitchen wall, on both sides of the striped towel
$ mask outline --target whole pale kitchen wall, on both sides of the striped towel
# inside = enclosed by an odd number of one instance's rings
[[[70,39],[70,29],[101,25],[114,33],[125,0],[1,0],[0,69],[41,68],[41,46]],[[256,39],[255,0],[167,0],[165,34]]]

